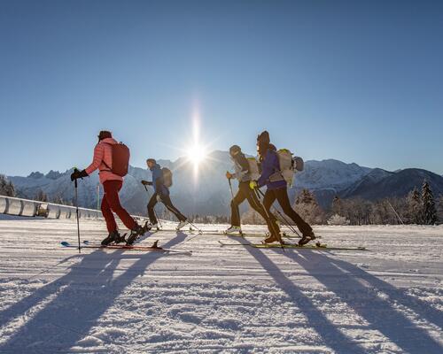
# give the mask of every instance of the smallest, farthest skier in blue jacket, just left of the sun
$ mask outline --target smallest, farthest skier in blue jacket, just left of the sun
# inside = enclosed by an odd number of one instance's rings
[[[176,227],[177,231],[182,227],[187,225],[188,219],[178,211],[177,208],[172,204],[171,198],[169,196],[169,189],[165,185],[165,180],[163,178],[163,171],[157,161],[153,158],[148,158],[146,160],[146,165],[152,172],[152,181],[142,181],[145,186],[152,186],[154,189],[154,194],[152,195],[148,203],[148,216],[151,221],[149,227],[158,227],[158,220],[155,217],[154,206],[157,202],[165,204],[167,210],[172,212],[177,219],[180,221]]]

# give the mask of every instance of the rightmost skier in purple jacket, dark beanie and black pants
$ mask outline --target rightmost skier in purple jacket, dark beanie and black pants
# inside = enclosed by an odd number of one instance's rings
[[[263,198],[263,205],[267,212],[269,212],[271,205],[278,201],[284,213],[289,216],[301,232],[301,239],[299,246],[306,244],[311,240],[315,240],[315,235],[312,227],[302,219],[297,212],[291,208],[289,201],[287,183],[284,181],[280,171],[280,164],[276,153],[276,147],[270,143],[269,133],[265,130],[257,137],[257,150],[259,152],[261,163],[261,175],[258,181],[251,181],[251,189],[260,188],[266,184],[267,190]],[[278,241],[269,240],[269,242]]]

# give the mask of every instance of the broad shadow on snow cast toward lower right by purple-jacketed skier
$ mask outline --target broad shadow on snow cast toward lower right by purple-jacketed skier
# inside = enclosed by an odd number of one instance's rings
[[[342,302],[366,319],[371,329],[378,330],[402,350],[427,354],[443,352],[443,347],[424,328],[417,327],[403,313],[393,308],[389,300],[377,296],[377,290],[366,287],[359,278],[372,284],[377,283],[380,289],[395,289],[392,285],[378,280],[357,266],[315,251],[305,250],[302,255],[294,250],[279,253],[298,262],[311,276],[334,292]],[[322,273],[319,273],[319,263],[322,265]],[[395,294],[395,291],[393,293]]]

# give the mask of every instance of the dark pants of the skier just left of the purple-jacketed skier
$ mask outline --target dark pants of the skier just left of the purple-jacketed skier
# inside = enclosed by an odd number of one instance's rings
[[[271,213],[264,210],[263,205],[260,204],[259,198],[253,191],[249,188],[249,182],[238,183],[238,191],[234,199],[230,202],[230,224],[233,227],[240,226],[240,211],[238,205],[242,204],[245,199],[251,205],[253,210],[258,212],[263,219],[266,220],[268,225],[268,230],[271,235],[276,235],[280,233],[280,228],[276,224],[276,217]]]

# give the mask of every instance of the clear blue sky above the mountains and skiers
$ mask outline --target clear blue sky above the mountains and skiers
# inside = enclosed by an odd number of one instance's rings
[[[192,141],[443,173],[442,1],[1,1],[0,173]]]

